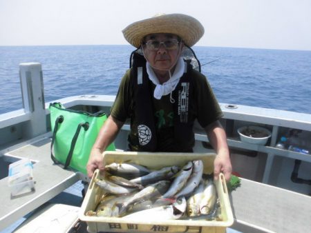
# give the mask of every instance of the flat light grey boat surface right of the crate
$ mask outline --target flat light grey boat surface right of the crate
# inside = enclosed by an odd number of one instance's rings
[[[241,232],[310,232],[311,197],[242,179],[230,195],[234,225]]]

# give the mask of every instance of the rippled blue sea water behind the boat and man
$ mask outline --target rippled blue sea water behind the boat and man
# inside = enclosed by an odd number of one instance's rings
[[[0,114],[23,108],[19,63],[41,63],[46,101],[116,94],[132,50],[130,45],[0,47]],[[311,51],[215,47],[194,51],[220,103],[311,114]]]

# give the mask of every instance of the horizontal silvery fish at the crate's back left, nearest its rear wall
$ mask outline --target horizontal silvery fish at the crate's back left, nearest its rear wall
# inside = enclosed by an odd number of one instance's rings
[[[106,165],[104,170],[115,176],[121,176],[126,179],[136,178],[149,174],[151,171],[135,163],[111,163]]]

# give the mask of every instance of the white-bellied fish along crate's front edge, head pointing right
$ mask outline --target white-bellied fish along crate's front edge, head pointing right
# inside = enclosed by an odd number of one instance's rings
[[[186,205],[185,196],[182,196],[172,205],[164,205],[149,210],[142,210],[123,216],[122,219],[145,219],[146,216],[148,216],[149,219],[154,219],[156,221],[180,219],[180,217],[185,214]]]

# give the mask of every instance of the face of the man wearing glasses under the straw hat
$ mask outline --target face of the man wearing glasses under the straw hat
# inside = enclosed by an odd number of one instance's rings
[[[147,43],[147,44],[146,44]],[[157,70],[170,70],[182,50],[182,42],[174,34],[149,34],[143,43],[144,57]]]

